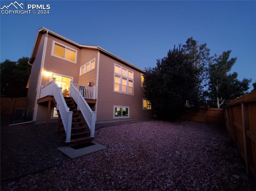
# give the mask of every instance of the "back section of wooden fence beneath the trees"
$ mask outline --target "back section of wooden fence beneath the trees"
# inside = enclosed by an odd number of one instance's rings
[[[209,124],[225,125],[224,111],[218,108],[188,110],[180,117],[181,120],[204,122]]]

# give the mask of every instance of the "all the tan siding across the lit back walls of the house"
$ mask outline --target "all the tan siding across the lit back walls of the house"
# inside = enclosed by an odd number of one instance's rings
[[[77,62],[72,63],[58,57],[54,57],[51,55],[52,52],[52,42],[57,41],[61,44],[64,44],[68,47],[77,50]],[[43,41],[42,41],[43,42]],[[43,48],[41,47],[41,51],[38,51],[37,57],[42,58]],[[41,56],[40,56],[41,55]],[[40,59],[41,59],[40,58]],[[95,69],[85,73],[80,76],[80,67],[92,59],[95,58]],[[150,116],[150,110],[142,110],[142,98],[143,93],[141,90],[141,73],[132,69],[114,59],[100,53],[100,69],[99,69],[99,79],[97,83],[97,69],[98,69],[98,50],[89,49],[89,48],[78,48],[74,45],[70,45],[60,39],[57,39],[51,35],[48,36],[47,48],[46,48],[46,56],[44,62],[44,71],[50,73],[58,73],[61,75],[66,75],[73,77],[73,81],[76,84],[88,85],[89,82],[92,82],[92,86],[96,85],[98,88],[98,100],[97,100],[97,121],[105,121],[105,120],[114,120],[113,119],[113,106],[129,106],[130,107],[130,119],[138,119],[138,118],[147,118]],[[36,63],[41,63],[41,60],[35,60]],[[126,69],[129,69],[134,72],[134,95],[126,95],[122,93],[114,92],[114,64],[118,64]],[[40,69],[40,67],[39,67]],[[34,82],[38,81],[35,77],[39,76],[39,69],[34,75]],[[46,82],[50,81],[50,76],[42,75],[42,86],[45,85]],[[36,85],[35,85],[36,86]],[[34,107],[34,106],[33,106]],[[45,120],[46,119],[46,106],[38,107],[38,118],[37,120]],[[125,118],[127,119],[127,118]],[[120,119],[118,119],[120,120]]]

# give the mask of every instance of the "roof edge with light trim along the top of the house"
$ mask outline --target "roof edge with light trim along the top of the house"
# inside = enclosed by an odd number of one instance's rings
[[[34,58],[35,58],[35,56],[36,56],[36,53],[37,53],[37,51],[38,51],[38,46],[39,46],[39,44],[40,44],[40,40],[41,40],[42,35],[43,35],[44,33],[50,34],[50,35],[52,35],[52,36],[54,36],[54,37],[57,37],[58,39],[61,39],[61,40],[63,40],[63,41],[66,41],[67,43],[70,43],[70,44],[72,44],[72,45],[74,45],[74,46],[76,46],[76,47],[79,47],[79,48],[98,49],[98,51],[100,51],[100,52],[103,53],[104,55],[107,55],[108,57],[111,57],[112,59],[115,59],[116,61],[119,61],[119,62],[123,63],[124,65],[127,65],[127,66],[129,66],[129,67],[132,67],[133,69],[136,69],[137,71],[140,71],[141,73],[145,73],[144,70],[142,70],[142,69],[140,69],[140,68],[138,68],[138,67],[132,65],[131,63],[128,63],[127,61],[125,61],[125,60],[121,59],[120,57],[118,57],[118,56],[116,56],[116,55],[110,53],[109,51],[103,49],[102,47],[94,46],[94,45],[81,45],[81,44],[78,44],[78,43],[76,43],[76,42],[74,42],[74,41],[72,41],[72,40],[70,40],[70,39],[67,39],[66,37],[63,37],[62,35],[59,35],[59,34],[57,34],[57,33],[55,33],[55,32],[52,32],[52,31],[50,31],[50,30],[48,30],[48,29],[46,29],[46,28],[40,28],[40,29],[38,30],[38,33],[37,33],[37,35],[36,35],[36,41],[35,41],[35,43],[34,43],[34,47],[33,47],[33,50],[32,50],[32,54],[31,54],[31,57],[30,57],[30,59],[29,59],[29,61],[28,61],[28,63],[29,63],[30,65],[32,65],[33,62],[34,62]]]

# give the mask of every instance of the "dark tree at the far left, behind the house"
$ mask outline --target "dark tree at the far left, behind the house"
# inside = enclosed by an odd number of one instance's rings
[[[16,62],[6,59],[0,63],[1,97],[26,97],[30,70],[28,57],[22,57]]]

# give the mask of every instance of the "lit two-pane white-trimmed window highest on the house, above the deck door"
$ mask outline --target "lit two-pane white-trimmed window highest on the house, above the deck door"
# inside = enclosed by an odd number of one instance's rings
[[[76,63],[77,50],[52,41],[52,56]]]

